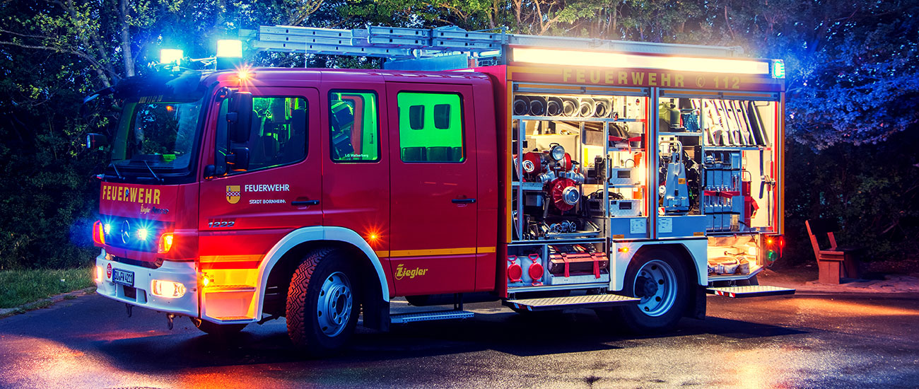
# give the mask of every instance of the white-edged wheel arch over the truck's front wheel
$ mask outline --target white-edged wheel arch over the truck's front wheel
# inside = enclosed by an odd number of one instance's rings
[[[379,297],[381,303],[389,303],[389,282],[380,257],[363,237],[345,227],[311,226],[299,228],[285,235],[259,264],[256,317],[260,317],[265,311],[267,289],[278,282],[289,282],[301,257],[312,249],[323,246],[335,246],[352,253],[360,264],[361,273],[366,276],[365,281],[377,280],[365,283],[379,286],[378,290],[369,291],[369,295]],[[286,296],[286,293],[284,295]]]

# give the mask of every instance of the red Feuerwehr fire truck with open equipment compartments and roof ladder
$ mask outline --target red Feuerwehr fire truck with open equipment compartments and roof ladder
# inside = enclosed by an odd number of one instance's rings
[[[756,282],[783,242],[781,61],[459,29],[250,38],[389,61],[176,58],[87,98],[123,107],[87,146],[111,153],[96,285],[129,313],[208,333],[286,317],[294,344],[323,350],[358,317],[469,317],[462,303],[482,296],[662,331],[704,317],[707,293],[794,292]],[[391,315],[400,296],[454,309]]]

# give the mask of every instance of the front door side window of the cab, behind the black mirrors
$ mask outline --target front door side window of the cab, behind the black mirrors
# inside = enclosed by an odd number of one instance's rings
[[[253,97],[252,126],[245,142],[229,142],[226,114],[228,104],[221,103],[217,120],[214,163],[217,174],[241,174],[277,166],[286,166],[306,158],[307,104],[303,97]],[[245,148],[249,166],[245,170],[221,171],[233,149]]]

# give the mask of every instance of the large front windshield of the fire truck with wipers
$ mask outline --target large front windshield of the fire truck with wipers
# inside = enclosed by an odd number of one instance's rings
[[[125,170],[186,170],[192,162],[201,100],[125,102],[112,144],[112,164]]]

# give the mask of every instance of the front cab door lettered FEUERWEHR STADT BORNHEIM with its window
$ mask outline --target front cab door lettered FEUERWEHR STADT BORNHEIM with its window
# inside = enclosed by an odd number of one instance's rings
[[[217,177],[204,179],[199,197],[199,255],[205,270],[255,269],[284,235],[323,223],[318,91],[259,87],[252,92],[254,119],[246,142],[227,142],[228,101],[211,115],[216,131],[210,133],[216,135],[210,164],[217,166]],[[248,168],[221,171],[224,155],[234,148],[248,149]]]

